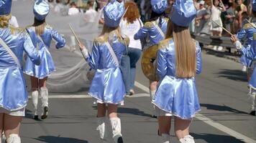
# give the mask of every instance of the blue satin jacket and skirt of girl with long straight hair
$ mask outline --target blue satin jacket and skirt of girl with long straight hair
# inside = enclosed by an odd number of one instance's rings
[[[201,48],[196,43],[196,74],[201,73]],[[181,119],[194,117],[200,108],[195,77],[175,76],[175,45],[173,39],[161,41],[157,52],[157,72],[160,83],[152,103]]]

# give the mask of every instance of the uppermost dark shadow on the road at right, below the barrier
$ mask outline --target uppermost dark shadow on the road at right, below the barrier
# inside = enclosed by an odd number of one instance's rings
[[[220,69],[219,73],[217,73],[218,77],[225,77],[227,79],[232,79],[234,81],[247,82],[247,74],[241,70],[231,70],[231,69]]]

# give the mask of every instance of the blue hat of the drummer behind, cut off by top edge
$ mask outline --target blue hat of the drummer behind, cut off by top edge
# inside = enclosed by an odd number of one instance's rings
[[[166,0],[151,0],[152,11],[157,14],[162,14],[167,8],[168,4]]]

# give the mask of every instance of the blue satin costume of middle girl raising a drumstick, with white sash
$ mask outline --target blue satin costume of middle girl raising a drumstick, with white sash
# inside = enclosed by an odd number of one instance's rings
[[[106,36],[106,35],[105,35]],[[89,93],[100,102],[119,104],[124,101],[125,89],[122,74],[109,49],[106,46],[104,36],[93,41],[92,53],[86,57],[89,66],[96,69],[96,74],[91,82]],[[120,63],[122,54],[129,45],[129,39],[122,39],[117,36],[116,31],[109,34],[111,45]]]

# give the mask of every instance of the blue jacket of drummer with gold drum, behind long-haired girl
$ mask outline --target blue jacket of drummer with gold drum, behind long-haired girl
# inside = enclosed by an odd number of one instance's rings
[[[150,46],[158,44],[159,41],[165,39],[160,34],[160,31],[155,27],[155,24],[158,24],[160,29],[163,31],[163,34],[166,34],[168,18],[161,18],[161,20],[157,19],[156,21],[148,21],[145,25],[134,35],[134,39],[143,39],[147,35],[150,37]]]

